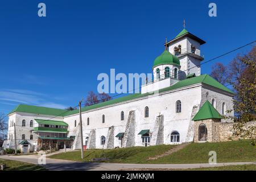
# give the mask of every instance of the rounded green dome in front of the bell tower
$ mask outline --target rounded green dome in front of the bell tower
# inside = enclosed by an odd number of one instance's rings
[[[176,56],[172,55],[169,51],[165,50],[162,55],[156,57],[153,68],[161,64],[180,65],[180,60]]]

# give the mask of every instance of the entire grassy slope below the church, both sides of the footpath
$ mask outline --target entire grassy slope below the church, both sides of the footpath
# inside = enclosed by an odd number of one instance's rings
[[[217,152],[217,163],[221,162],[255,162],[256,147],[251,146],[248,140],[219,142],[219,143],[191,143],[183,149],[156,160],[147,160],[150,156],[163,154],[175,145],[160,145],[150,147],[116,148],[112,150],[87,150],[84,152],[84,161],[92,158],[110,158],[106,162],[113,163],[208,163],[209,151]],[[104,155],[105,154],[105,155]],[[49,158],[80,160],[81,152],[73,151],[55,154]]]

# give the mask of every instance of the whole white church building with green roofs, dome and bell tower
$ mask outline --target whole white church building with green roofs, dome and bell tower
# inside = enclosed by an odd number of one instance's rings
[[[141,93],[82,107],[82,145],[154,146],[193,142],[195,136],[196,141],[213,141],[209,136],[218,133],[217,125],[213,129],[213,125],[195,123],[204,119],[229,122],[221,115],[233,109],[234,93],[209,75],[201,75],[204,57],[200,47],[204,43],[182,30],[166,42],[164,52],[152,63],[154,80],[142,85]],[[9,113],[5,148],[15,146],[14,125],[16,145],[23,152],[49,146],[81,148],[79,110],[16,106]]]

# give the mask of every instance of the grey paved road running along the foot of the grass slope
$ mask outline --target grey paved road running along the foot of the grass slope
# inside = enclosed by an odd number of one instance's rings
[[[22,162],[38,164],[38,155],[19,155],[7,156],[1,155],[2,159],[18,160]],[[119,164],[119,163],[87,163],[87,162],[73,162],[71,160],[59,160],[46,158],[46,164],[43,167],[49,170],[65,171],[65,170],[96,170],[96,171],[117,171],[126,169],[139,169],[139,168],[200,168],[200,167],[218,167],[228,165],[242,165],[242,164],[256,164],[256,162],[237,162],[237,163],[217,163],[210,165],[207,163],[201,164]]]

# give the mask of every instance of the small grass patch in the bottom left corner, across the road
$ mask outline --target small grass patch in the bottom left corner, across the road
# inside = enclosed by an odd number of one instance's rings
[[[46,168],[35,164],[19,162],[16,160],[0,159],[0,164],[6,164],[4,171],[44,171]]]

